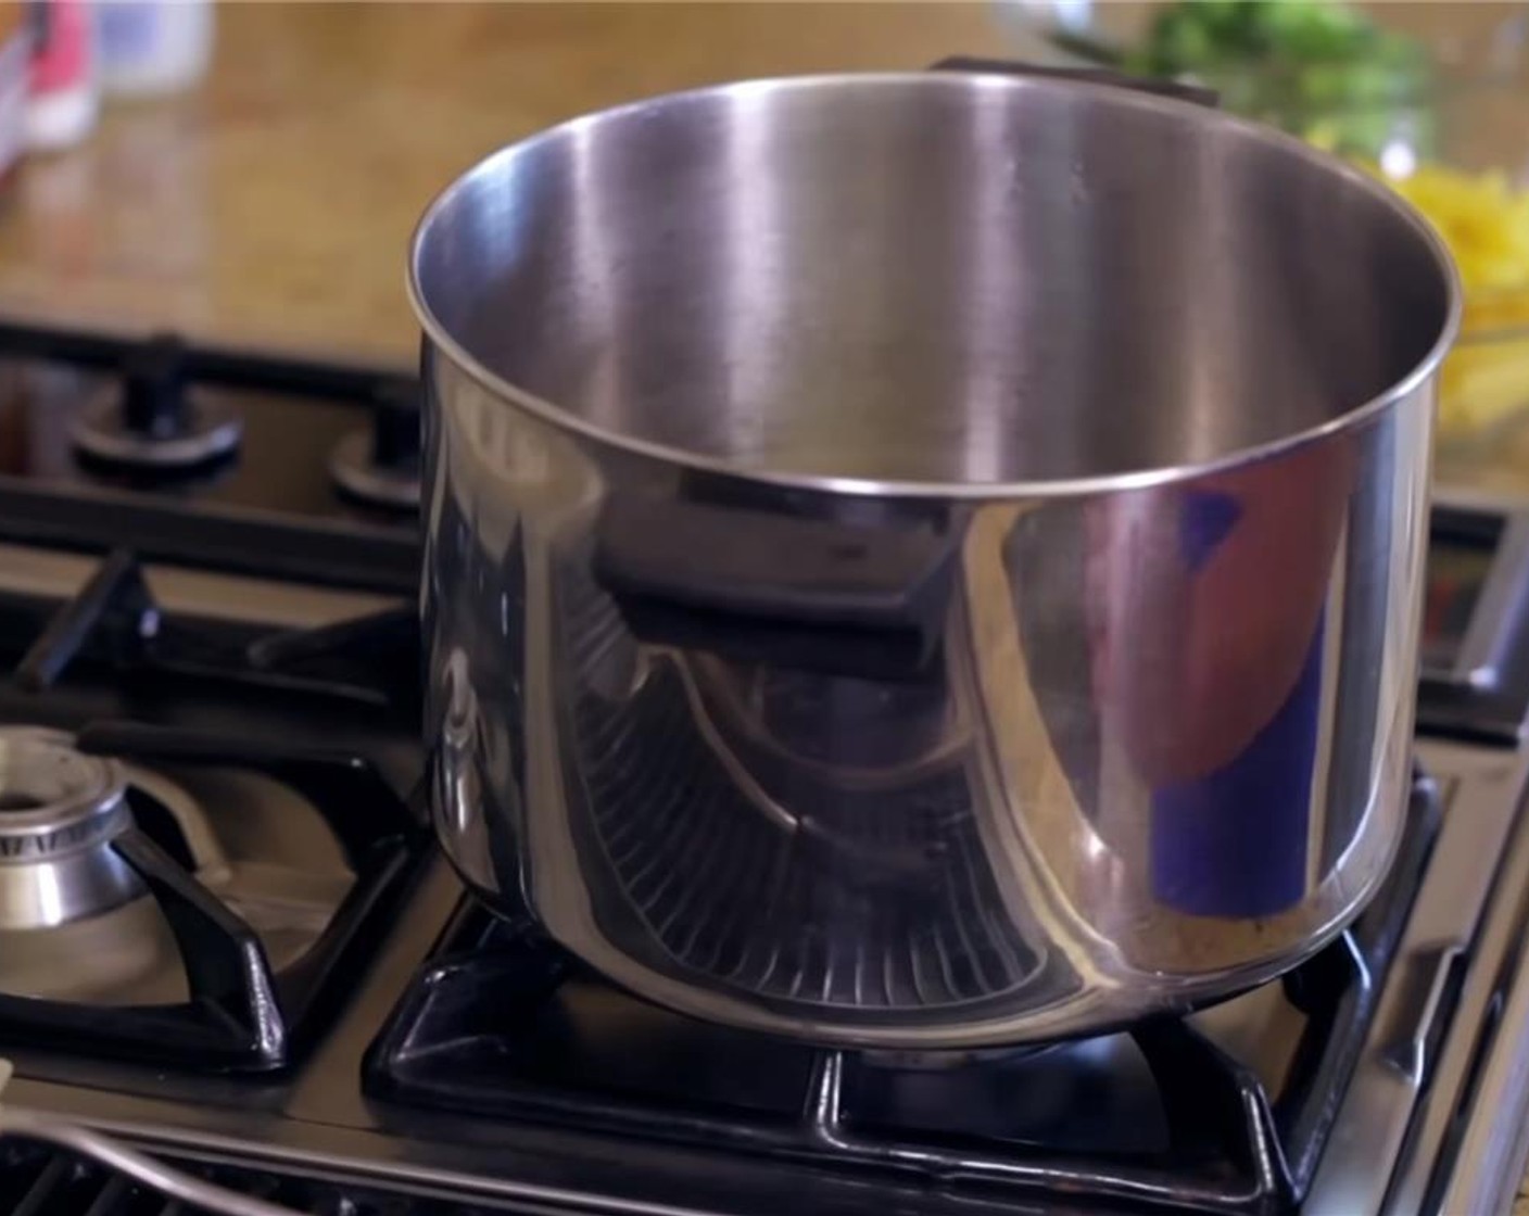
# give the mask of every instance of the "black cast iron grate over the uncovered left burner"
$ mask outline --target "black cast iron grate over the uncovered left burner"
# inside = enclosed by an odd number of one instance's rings
[[[83,751],[131,763],[237,768],[281,782],[318,809],[355,875],[312,948],[272,970],[255,932],[188,869],[173,817],[133,788],[136,826],[112,847],[157,902],[180,953],[190,999],[104,1008],[0,994],[0,1040],[211,1069],[272,1069],[292,1062],[327,1014],[335,990],[344,987],[342,976],[375,944],[387,905],[422,852],[414,814],[359,754],[297,742],[291,733],[95,719],[89,710],[81,713],[78,690],[60,681],[76,664],[104,667],[118,697],[113,705],[145,711],[173,697],[176,687],[208,687],[223,696],[232,690],[240,702],[254,690],[287,707],[318,701],[330,714],[358,699],[407,713],[410,687],[402,675],[391,684],[384,678],[364,685],[346,675],[368,667],[417,673],[417,644],[404,636],[396,616],[312,633],[225,636],[164,618],[136,560],[121,551],[98,566],[73,600],[41,616],[37,604],[8,598],[0,606],[0,618],[31,624],[28,635],[35,636],[12,681],[0,687],[0,717],[64,727]],[[144,684],[153,684],[153,696],[141,690]]]

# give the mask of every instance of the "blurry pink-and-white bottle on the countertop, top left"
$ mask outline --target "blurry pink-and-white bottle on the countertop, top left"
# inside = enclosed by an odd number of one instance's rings
[[[67,148],[95,130],[101,109],[90,9],[86,0],[28,0],[26,12],[32,23],[26,145]]]

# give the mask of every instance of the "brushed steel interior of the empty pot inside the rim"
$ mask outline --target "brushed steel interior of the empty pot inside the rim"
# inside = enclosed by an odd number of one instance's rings
[[[1185,102],[1050,80],[680,93],[427,214],[427,326],[563,422],[743,473],[1199,465],[1425,363],[1449,272],[1388,191]]]

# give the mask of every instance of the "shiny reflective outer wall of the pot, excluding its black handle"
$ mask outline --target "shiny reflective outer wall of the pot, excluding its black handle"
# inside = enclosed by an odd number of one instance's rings
[[[471,775],[437,786],[445,843],[639,991],[818,1039],[1047,1036],[1278,970],[1399,829],[1425,405],[1197,483],[953,512],[934,656],[879,681],[641,641],[596,575],[598,473],[480,418],[567,465],[517,514],[443,441],[431,720],[437,775]]]

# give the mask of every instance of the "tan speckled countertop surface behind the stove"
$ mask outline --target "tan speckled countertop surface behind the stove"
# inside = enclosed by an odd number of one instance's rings
[[[1488,20],[1404,12],[1451,34]],[[685,86],[1031,49],[994,3],[261,3],[217,18],[199,90],[112,107],[83,148],[24,168],[0,211],[0,314],[408,366],[410,229],[494,147]],[[1529,422],[1442,453],[1439,476],[1529,494]]]

